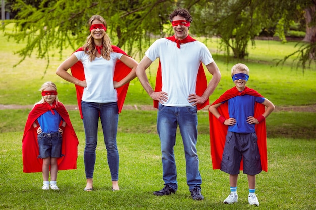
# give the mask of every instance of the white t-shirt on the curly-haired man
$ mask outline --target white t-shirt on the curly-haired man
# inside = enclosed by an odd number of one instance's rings
[[[151,60],[159,58],[162,69],[162,91],[168,93],[165,106],[192,106],[188,97],[195,94],[197,72],[214,60],[205,44],[194,41],[180,45],[166,38],[156,40],[145,52]]]

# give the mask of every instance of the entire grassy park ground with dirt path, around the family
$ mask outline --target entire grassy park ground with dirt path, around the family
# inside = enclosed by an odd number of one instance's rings
[[[49,58],[48,67],[47,60],[39,59],[36,53],[25,57],[24,61],[19,63],[21,57],[16,52],[23,49],[27,43],[17,43],[4,36],[6,32],[11,31],[13,26],[9,25],[0,33],[0,209],[253,208],[248,205],[247,178],[242,172],[238,181],[238,203],[222,203],[229,194],[229,180],[224,172],[212,169],[207,109],[198,112],[197,143],[203,179],[202,194],[205,200],[196,202],[190,198],[180,133],[177,134],[175,146],[178,191],[171,196],[153,196],[152,192],[163,186],[160,142],[156,133],[157,112],[152,108],[152,100],[137,78],[130,83],[119,117],[121,190],[111,191],[106,149],[100,130],[94,191],[84,192],[84,132],[79,111],[76,109],[75,87],[55,75],[58,65],[73,49],[65,48],[61,55],[59,49],[56,49],[54,56]],[[225,90],[233,87],[230,68],[235,63],[242,62],[250,68],[247,86],[258,90],[276,105],[276,111],[267,118],[268,172],[257,176],[256,194],[260,202],[259,208],[315,209],[316,66],[296,66],[293,64],[295,56],[291,56],[283,65],[277,65],[278,60],[299,48],[300,45],[297,46],[296,42],[256,40],[255,46],[248,48],[249,55],[244,59],[227,60],[225,52],[220,50],[221,42],[218,38],[191,35],[208,46],[222,73],[217,89],[210,96],[210,103]],[[133,56],[140,61],[143,53],[133,52]],[[156,68],[157,62],[154,62],[147,71],[152,85],[155,83]],[[206,75],[209,81],[211,75]],[[23,173],[23,129],[33,104],[41,98],[38,90],[45,81],[56,83],[59,99],[68,107],[79,138],[77,169],[59,171],[59,191],[41,190],[41,173]]]

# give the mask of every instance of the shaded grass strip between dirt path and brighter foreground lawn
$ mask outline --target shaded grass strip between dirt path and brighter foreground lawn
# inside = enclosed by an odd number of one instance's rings
[[[0,132],[24,130],[30,109],[0,110]],[[83,132],[79,111],[68,111],[76,132]],[[156,111],[123,110],[118,132],[156,134]],[[274,112],[267,118],[267,136],[293,139],[316,139],[316,112]],[[198,112],[198,133],[209,134],[208,112]],[[307,122],[307,123],[306,123]],[[101,131],[101,125],[99,125]]]

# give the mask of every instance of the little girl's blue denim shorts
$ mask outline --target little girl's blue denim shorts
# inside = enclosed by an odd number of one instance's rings
[[[62,135],[59,132],[37,135],[39,145],[38,158],[59,158],[62,155]]]

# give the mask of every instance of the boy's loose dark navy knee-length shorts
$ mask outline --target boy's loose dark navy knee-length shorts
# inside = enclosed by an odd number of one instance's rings
[[[262,171],[259,147],[255,133],[227,132],[221,170],[231,175],[239,174],[241,158],[244,174],[256,175]]]

